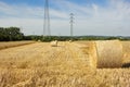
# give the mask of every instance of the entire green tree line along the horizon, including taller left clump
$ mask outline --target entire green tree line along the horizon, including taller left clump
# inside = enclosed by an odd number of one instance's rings
[[[66,41],[66,40],[130,40],[130,37],[122,36],[25,36],[20,27],[0,27],[0,41],[16,41],[16,40],[40,40],[40,41]]]

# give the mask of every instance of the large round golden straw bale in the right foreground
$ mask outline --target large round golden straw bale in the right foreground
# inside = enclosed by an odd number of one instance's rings
[[[122,45],[119,40],[95,41],[98,67],[120,67]]]

